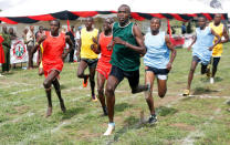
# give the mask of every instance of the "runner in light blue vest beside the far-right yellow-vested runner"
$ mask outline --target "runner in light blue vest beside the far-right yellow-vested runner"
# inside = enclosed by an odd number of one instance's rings
[[[199,28],[196,29],[196,35],[192,43],[188,46],[188,50],[192,46],[192,61],[190,71],[188,74],[187,89],[184,91],[184,95],[187,96],[190,93],[191,81],[194,79],[194,72],[197,64],[201,63],[201,74],[208,73],[208,64],[211,60],[212,49],[220,42],[220,37],[211,29],[207,27],[207,19],[205,17],[198,18]],[[212,41],[217,37],[217,41],[212,44]]]

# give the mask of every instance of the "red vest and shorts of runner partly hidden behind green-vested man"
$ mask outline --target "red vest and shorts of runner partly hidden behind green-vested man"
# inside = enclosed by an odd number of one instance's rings
[[[113,51],[107,50],[107,45],[111,43],[113,39],[113,35],[106,37],[104,32],[100,34],[100,46],[101,46],[101,58],[97,62],[97,68],[96,71],[101,74],[103,74],[106,79],[108,77],[108,74],[111,73],[111,68],[112,64],[109,63],[111,61],[111,55]]]

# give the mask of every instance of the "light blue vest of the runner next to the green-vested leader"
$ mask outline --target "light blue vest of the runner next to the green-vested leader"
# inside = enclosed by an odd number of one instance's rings
[[[165,32],[153,35],[148,32],[145,35],[147,52],[144,56],[144,64],[156,69],[166,69],[169,62],[169,49],[165,42]]]

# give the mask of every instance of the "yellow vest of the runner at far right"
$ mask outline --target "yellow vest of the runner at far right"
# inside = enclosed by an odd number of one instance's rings
[[[220,35],[220,38],[222,38],[222,34],[223,34],[223,24],[222,24],[222,23],[220,23],[218,27],[216,27],[215,23],[211,22],[211,23],[209,24],[209,27],[210,27],[211,29],[213,29],[213,31],[215,31],[218,35]],[[217,41],[217,38],[216,38],[216,37],[215,37],[213,43],[215,43],[215,41]],[[219,44],[217,44],[217,45],[213,48],[213,50],[212,50],[212,56],[221,56],[221,54],[222,54],[222,43],[219,43]]]

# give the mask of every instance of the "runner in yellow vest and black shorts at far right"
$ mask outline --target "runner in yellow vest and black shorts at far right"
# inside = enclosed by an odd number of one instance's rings
[[[215,32],[220,35],[220,38],[224,38],[224,40],[221,40],[219,44],[217,44],[213,50],[212,50],[212,73],[211,73],[211,77],[210,77],[210,83],[213,84],[215,83],[215,75],[217,72],[217,66],[218,63],[220,61],[221,54],[222,54],[222,43],[227,43],[229,41],[229,34],[227,32],[227,28],[223,25],[223,23],[221,23],[221,17],[222,14],[215,14],[215,20],[213,22],[211,22],[209,24],[209,27],[211,29],[215,30]],[[218,39],[215,38],[213,43],[217,41]]]

